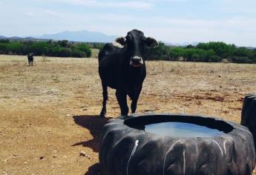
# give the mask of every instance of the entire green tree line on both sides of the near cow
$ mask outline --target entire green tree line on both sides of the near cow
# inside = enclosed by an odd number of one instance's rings
[[[90,57],[91,48],[102,49],[104,43],[77,43],[63,41],[10,41],[0,39],[0,54],[61,57]],[[148,60],[184,62],[256,63],[256,49],[237,47],[224,42],[199,43],[196,46],[171,47],[160,42],[159,47],[148,49]]]

